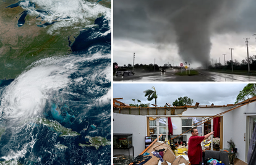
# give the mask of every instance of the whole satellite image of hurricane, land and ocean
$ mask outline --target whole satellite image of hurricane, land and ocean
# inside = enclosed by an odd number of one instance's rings
[[[0,164],[111,164],[111,1],[0,11]]]

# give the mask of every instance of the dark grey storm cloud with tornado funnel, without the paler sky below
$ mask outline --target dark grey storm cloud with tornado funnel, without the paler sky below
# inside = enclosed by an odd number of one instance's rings
[[[114,38],[176,43],[184,61],[210,61],[211,36],[253,32],[252,0],[114,0]],[[256,31],[256,30],[255,30]]]

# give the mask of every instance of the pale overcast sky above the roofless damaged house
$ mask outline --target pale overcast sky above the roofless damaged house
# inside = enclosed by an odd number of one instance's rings
[[[247,83],[114,83],[113,98],[123,98],[119,101],[127,104],[134,104],[132,99],[140,99],[144,104],[155,104],[155,99],[147,101],[143,93],[154,86],[158,106],[173,104],[181,96],[194,99],[193,105],[196,102],[200,105],[226,105],[233,104],[239,91],[246,85]]]

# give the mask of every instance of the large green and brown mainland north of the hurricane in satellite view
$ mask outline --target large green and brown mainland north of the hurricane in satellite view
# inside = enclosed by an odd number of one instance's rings
[[[58,32],[50,35],[48,30],[52,25],[38,27],[37,25],[45,22],[41,17],[36,19],[35,15],[27,15],[25,24],[18,27],[20,14],[24,10],[22,7],[6,8],[16,2],[18,1],[0,1],[0,79],[17,77],[38,59],[70,54],[72,51],[69,45],[75,41],[81,29],[81,25],[77,23],[72,27],[59,28]],[[99,4],[111,7],[111,1],[103,0]],[[40,9],[40,6],[37,8]],[[88,18],[87,25],[93,25],[95,19]],[[83,24],[83,27],[87,25]]]

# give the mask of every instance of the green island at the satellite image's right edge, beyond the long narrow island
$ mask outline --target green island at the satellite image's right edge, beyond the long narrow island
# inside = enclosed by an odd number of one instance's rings
[[[85,138],[89,139],[89,142],[91,143],[90,145],[85,145],[82,143],[79,143],[79,146],[94,146],[96,148],[96,150],[98,150],[98,148],[100,148],[100,146],[106,146],[106,145],[111,145],[111,140],[107,140],[104,137],[90,137],[90,136],[86,136]]]

